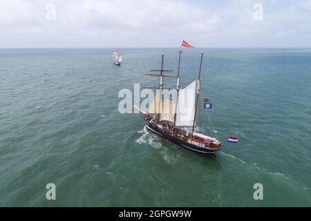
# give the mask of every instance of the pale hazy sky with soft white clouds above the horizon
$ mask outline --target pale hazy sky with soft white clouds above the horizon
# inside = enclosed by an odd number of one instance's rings
[[[310,47],[311,0],[0,0],[0,48],[178,47],[182,39]]]

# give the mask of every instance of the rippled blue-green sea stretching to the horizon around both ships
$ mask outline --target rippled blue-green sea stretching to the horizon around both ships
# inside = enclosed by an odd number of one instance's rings
[[[162,49],[120,51],[115,66],[113,48],[0,50],[0,206],[311,206],[310,49],[205,48],[216,157],[118,111],[121,89],[158,85],[143,75]],[[178,48],[164,58],[176,73]],[[200,49],[183,51],[183,86],[199,63]]]

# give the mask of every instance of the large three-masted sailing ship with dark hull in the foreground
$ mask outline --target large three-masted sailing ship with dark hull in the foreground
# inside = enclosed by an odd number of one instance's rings
[[[184,88],[180,88],[181,54],[182,50],[180,49],[178,75],[176,77],[167,75],[167,73],[172,73],[172,70],[163,69],[164,52],[162,52],[161,69],[151,70],[152,73],[147,74],[147,76],[160,78],[160,85],[156,88],[156,95],[153,97],[148,111],[144,112],[136,105],[133,105],[133,107],[142,113],[147,128],[156,133],[156,135],[191,151],[214,155],[215,151],[219,151],[222,148],[221,142],[214,137],[200,133],[200,129],[196,125],[198,123],[197,111],[200,97],[203,51],[200,57],[198,79],[194,79]],[[163,90],[167,89],[163,87],[163,79],[166,77],[177,80],[175,90],[177,93],[176,102],[171,99],[164,99],[164,95],[162,95]]]

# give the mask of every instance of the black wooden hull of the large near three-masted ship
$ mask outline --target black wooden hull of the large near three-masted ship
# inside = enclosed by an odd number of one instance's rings
[[[160,131],[157,127],[149,124],[149,122],[146,122],[146,125],[147,125],[147,128],[150,131],[152,131],[153,133],[156,133],[157,135],[164,137],[165,139],[169,140],[170,142],[173,142],[174,144],[178,144],[179,146],[187,148],[191,151],[195,151],[195,152],[203,153],[203,154],[214,155],[214,152],[219,150],[219,149],[218,150],[209,150],[207,148],[202,148],[202,147],[196,146],[194,144],[189,144],[187,142],[183,142],[182,140],[179,140],[176,137],[173,137],[171,135],[168,135],[167,133]]]

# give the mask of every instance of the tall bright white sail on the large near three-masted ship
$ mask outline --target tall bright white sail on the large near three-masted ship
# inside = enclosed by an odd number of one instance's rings
[[[196,80],[179,90],[176,126],[193,126],[196,103]]]

